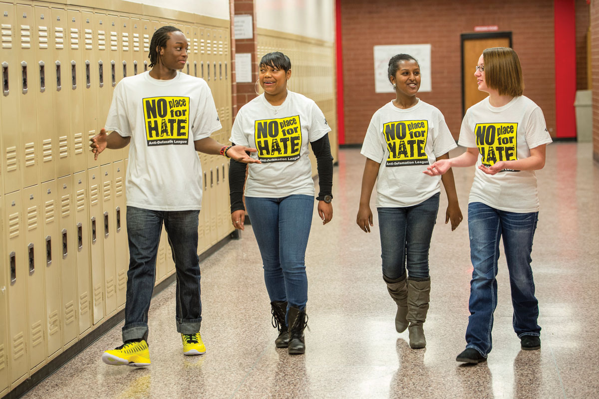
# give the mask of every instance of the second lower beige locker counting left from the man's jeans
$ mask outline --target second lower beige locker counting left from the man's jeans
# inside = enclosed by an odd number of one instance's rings
[[[103,242],[104,251],[104,314],[113,315],[117,308],[116,267],[114,265],[114,188],[112,164],[100,167],[102,215],[99,221],[98,236]]]

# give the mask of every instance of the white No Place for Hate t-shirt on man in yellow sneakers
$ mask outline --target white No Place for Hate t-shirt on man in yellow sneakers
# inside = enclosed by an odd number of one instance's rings
[[[114,88],[106,131],[131,136],[127,205],[154,211],[200,209],[202,167],[193,141],[221,128],[208,84],[177,73],[123,78]]]

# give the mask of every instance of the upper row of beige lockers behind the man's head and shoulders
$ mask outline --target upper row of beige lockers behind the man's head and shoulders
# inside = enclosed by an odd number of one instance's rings
[[[115,150],[94,161],[88,141],[104,126],[118,81],[148,69],[160,26],[185,33],[183,72],[207,81],[223,130],[231,127],[226,28],[43,2],[0,2],[0,23],[1,193],[126,158]]]

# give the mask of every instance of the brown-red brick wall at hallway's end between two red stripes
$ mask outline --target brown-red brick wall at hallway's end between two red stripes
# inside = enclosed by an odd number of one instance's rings
[[[553,1],[422,0],[406,6],[379,0],[373,7],[370,0],[343,0],[341,23],[346,144],[362,142],[374,111],[393,98],[391,93],[374,93],[373,46],[385,44],[432,45],[432,92],[418,96],[443,112],[457,138],[462,121],[460,35],[472,33],[477,25],[512,31],[525,95],[543,109],[555,135]]]

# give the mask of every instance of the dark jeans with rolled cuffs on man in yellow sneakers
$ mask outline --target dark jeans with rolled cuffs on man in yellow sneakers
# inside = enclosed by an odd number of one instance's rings
[[[162,222],[173,249],[176,266],[177,331],[195,334],[202,321],[198,258],[199,211],[150,211],[127,207],[129,237],[129,271],[123,342],[148,337],[148,310],[154,290],[156,254],[162,232]]]

